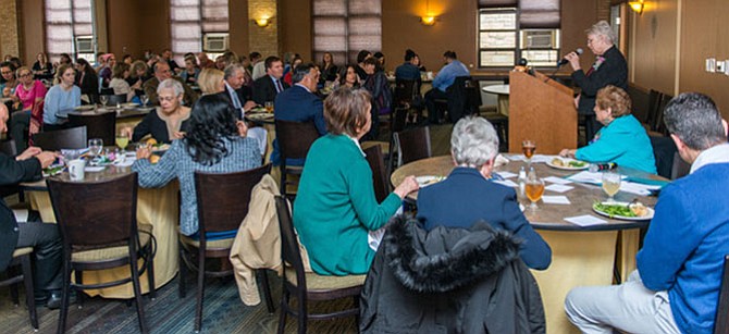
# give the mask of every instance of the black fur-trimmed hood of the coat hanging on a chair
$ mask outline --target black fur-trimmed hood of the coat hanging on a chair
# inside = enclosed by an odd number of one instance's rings
[[[392,221],[382,243],[395,277],[419,293],[445,293],[498,273],[519,259],[520,244],[486,222],[469,230],[438,226],[427,232],[404,217]]]

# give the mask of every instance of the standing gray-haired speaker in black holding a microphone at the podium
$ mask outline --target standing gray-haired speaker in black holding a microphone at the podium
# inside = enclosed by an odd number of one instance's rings
[[[570,52],[565,55],[572,66],[572,79],[582,91],[574,99],[578,113],[585,116],[586,141],[593,139],[603,125],[595,119],[595,98],[597,90],[613,85],[628,89],[628,63],[620,50],[614,45],[617,40],[610,25],[601,21],[585,30],[588,34],[588,48],[595,54],[595,62],[586,71],[580,65],[580,55]]]

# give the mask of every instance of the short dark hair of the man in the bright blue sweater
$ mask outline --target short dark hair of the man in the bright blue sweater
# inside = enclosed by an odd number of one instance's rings
[[[689,148],[705,150],[727,141],[721,114],[712,98],[700,92],[683,92],[672,98],[664,111],[668,132]]]

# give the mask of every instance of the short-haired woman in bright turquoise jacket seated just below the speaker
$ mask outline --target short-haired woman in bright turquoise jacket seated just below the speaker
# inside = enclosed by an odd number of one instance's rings
[[[628,94],[615,86],[597,91],[595,115],[603,127],[590,145],[577,150],[564,149],[563,157],[588,162],[615,162],[619,166],[656,173],[653,146],[645,128],[633,115]]]

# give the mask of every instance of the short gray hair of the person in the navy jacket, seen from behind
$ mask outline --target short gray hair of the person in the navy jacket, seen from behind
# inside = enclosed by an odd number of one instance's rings
[[[498,136],[483,117],[468,116],[453,127],[450,154],[458,165],[480,168],[498,153]]]

